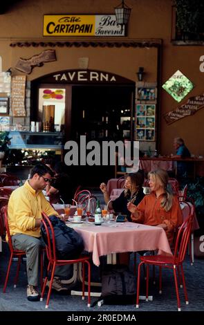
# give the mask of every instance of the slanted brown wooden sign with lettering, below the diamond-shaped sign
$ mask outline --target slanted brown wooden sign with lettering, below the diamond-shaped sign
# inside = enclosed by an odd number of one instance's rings
[[[189,97],[185,104],[176,107],[173,111],[165,113],[164,119],[167,124],[174,123],[181,118],[194,115],[199,109],[204,107],[204,93],[198,96]]]

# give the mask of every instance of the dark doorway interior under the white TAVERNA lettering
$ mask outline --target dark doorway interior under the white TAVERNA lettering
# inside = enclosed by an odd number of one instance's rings
[[[131,138],[133,86],[73,86],[71,139],[86,142]],[[114,175],[114,166],[75,166],[77,183],[98,187]]]

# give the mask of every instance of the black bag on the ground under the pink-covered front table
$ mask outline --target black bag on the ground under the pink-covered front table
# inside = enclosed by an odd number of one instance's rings
[[[104,304],[134,304],[136,301],[136,277],[127,266],[107,265],[102,272]]]

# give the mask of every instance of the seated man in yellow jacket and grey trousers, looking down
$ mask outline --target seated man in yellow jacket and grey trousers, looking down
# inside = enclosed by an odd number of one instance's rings
[[[48,216],[55,215],[53,209],[42,190],[50,183],[53,172],[46,165],[36,165],[30,173],[30,179],[12,192],[8,202],[8,224],[12,236],[12,244],[17,250],[26,251],[27,267],[27,297],[30,301],[38,301],[37,292],[39,248],[42,245],[40,225],[41,212]],[[60,275],[60,268],[55,274]],[[53,281],[53,288],[57,291],[67,290],[63,288],[58,277]]]

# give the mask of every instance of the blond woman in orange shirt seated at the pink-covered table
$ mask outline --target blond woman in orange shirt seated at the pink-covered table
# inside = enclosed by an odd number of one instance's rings
[[[167,187],[167,171],[163,169],[150,171],[148,176],[151,193],[146,195],[137,206],[128,203],[127,208],[131,212],[133,222],[163,228],[171,245],[175,229],[183,222],[178,198],[171,194]]]

